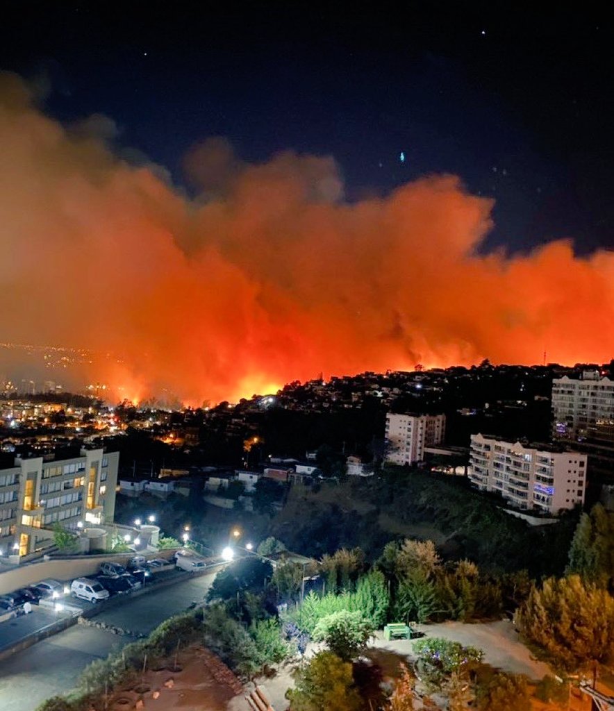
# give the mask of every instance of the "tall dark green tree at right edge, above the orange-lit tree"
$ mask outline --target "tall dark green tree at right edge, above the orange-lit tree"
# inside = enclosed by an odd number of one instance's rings
[[[566,574],[578,574],[586,582],[609,587],[614,581],[614,513],[596,503],[583,513],[569,549]]]

